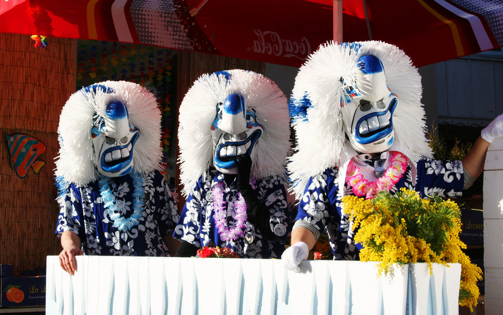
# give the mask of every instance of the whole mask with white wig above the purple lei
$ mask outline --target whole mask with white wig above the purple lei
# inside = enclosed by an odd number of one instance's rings
[[[288,101],[262,74],[231,69],[202,74],[180,104],[180,181],[188,196],[211,168],[236,174],[236,159],[250,156],[250,176],[287,179]],[[140,128],[141,130],[141,128]]]

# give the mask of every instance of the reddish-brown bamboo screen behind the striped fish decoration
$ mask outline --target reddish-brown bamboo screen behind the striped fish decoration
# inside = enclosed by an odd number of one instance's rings
[[[63,104],[75,91],[75,41],[48,38],[35,48],[30,36],[0,34],[0,264],[14,275],[45,268],[47,255],[61,246],[55,236],[54,158]],[[45,165],[20,177],[11,166],[8,136],[29,135],[46,146]]]

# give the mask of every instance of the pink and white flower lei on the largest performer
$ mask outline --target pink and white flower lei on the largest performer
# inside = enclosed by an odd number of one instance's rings
[[[374,181],[368,181],[360,174],[360,168],[353,163],[349,162],[348,170],[346,172],[346,182],[348,187],[353,187],[353,192],[359,196],[365,196],[366,199],[372,199],[376,193],[385,190],[389,191],[394,184],[396,184],[407,170],[407,157],[400,152],[390,152],[391,166],[389,166],[384,174]]]

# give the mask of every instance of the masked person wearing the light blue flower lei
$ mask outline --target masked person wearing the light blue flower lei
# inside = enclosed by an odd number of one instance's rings
[[[160,173],[160,118],[155,96],[126,81],[84,87],[65,103],[56,233],[68,273],[75,255],[170,256],[163,237],[179,216]]]

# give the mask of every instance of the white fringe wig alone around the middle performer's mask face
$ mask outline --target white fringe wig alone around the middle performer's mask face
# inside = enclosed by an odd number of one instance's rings
[[[246,108],[253,108],[264,127],[251,152],[251,176],[261,179],[278,175],[286,179],[286,158],[290,153],[288,101],[279,87],[265,76],[240,69],[201,75],[180,105],[180,179],[187,196],[213,163],[215,144],[211,124],[216,104],[227,95],[239,93]]]

